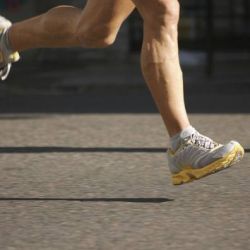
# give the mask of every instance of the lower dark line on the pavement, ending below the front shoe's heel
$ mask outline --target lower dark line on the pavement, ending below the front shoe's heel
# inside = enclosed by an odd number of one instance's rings
[[[1,201],[71,201],[71,202],[128,202],[128,203],[164,203],[174,201],[168,198],[0,198]]]

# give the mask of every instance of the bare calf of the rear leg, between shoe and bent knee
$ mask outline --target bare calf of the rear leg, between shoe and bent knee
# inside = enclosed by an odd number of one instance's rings
[[[79,45],[73,35],[81,10],[60,6],[31,19],[13,24],[9,40],[14,51],[40,47],[68,47]]]

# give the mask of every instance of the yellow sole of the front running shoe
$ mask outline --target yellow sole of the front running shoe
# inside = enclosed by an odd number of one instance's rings
[[[244,149],[240,146],[240,144],[237,144],[225,157],[209,164],[208,166],[199,169],[185,167],[181,172],[172,176],[172,182],[174,185],[181,185],[201,179],[205,176],[231,167],[235,163],[239,162],[243,156]]]

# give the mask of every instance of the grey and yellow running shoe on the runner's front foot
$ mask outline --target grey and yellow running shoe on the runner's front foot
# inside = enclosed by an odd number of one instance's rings
[[[189,135],[180,135],[177,151],[168,150],[168,162],[174,185],[180,185],[216,173],[239,162],[244,149],[236,142],[226,145],[214,142],[195,129]]]

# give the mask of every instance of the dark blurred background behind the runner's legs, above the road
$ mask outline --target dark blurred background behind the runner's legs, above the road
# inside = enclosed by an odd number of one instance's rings
[[[56,5],[83,8],[85,3],[85,0],[3,0],[0,9],[4,16],[15,22]],[[188,110],[248,112],[250,1],[181,0],[180,3],[180,59]],[[105,99],[104,93],[110,95],[112,91],[116,94],[117,91],[121,94],[136,92],[137,101],[146,98],[145,102],[150,102],[151,109],[142,102],[140,111],[155,111],[140,71],[141,43],[142,20],[135,11],[122,26],[115,44],[107,49],[39,49],[23,53],[22,62],[14,65],[7,84],[1,86],[1,93],[6,97],[99,91]],[[193,103],[194,95],[197,97]],[[133,97],[127,102],[132,100]],[[197,105],[199,101],[201,105]],[[92,108],[93,105],[90,111]],[[103,103],[99,109],[102,108]]]

